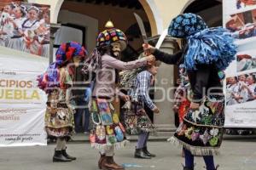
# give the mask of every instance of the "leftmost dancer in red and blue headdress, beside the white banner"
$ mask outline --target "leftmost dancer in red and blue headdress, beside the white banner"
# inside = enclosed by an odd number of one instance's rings
[[[68,101],[68,90],[73,85],[74,67],[84,60],[86,51],[78,42],[62,43],[55,62],[38,77],[38,87],[48,94],[45,129],[49,138],[56,139],[53,161],[73,161],[66,152],[67,141],[73,133],[73,108]]]

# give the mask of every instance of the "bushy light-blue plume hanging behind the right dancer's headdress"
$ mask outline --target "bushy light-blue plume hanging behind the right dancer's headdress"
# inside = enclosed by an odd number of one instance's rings
[[[196,70],[196,65],[215,63],[224,71],[236,56],[236,45],[230,32],[222,27],[208,28],[187,37],[189,48],[184,55],[187,70]]]

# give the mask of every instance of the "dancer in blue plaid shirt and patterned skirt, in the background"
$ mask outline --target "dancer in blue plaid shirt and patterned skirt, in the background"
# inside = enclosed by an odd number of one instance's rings
[[[144,56],[141,54],[140,58]],[[144,107],[147,105],[154,113],[160,112],[149,97],[149,88],[154,86],[154,78],[159,64],[159,62],[155,62],[154,65],[148,65],[134,71],[123,71],[121,74],[121,84],[124,85],[123,88],[130,89],[128,94],[131,96],[131,100],[124,106],[125,129],[127,133],[138,134],[135,158],[150,159],[155,157],[148,151],[147,147],[149,133],[154,131],[154,125]],[[130,82],[133,83],[131,87],[128,87]]]

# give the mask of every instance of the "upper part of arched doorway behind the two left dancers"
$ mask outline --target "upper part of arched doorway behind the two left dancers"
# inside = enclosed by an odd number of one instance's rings
[[[106,22],[112,20],[114,27],[124,31],[129,39],[122,60],[136,59],[143,51],[143,38],[133,13],[141,16],[147,35],[151,37],[156,24],[152,26],[152,18],[149,20],[143,5],[137,0],[64,0],[57,18],[61,29],[55,34],[55,48],[61,42],[78,41],[92,51],[98,32],[105,30]]]

